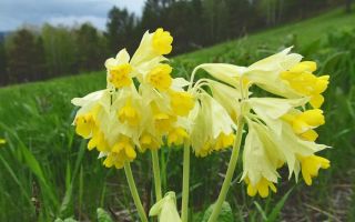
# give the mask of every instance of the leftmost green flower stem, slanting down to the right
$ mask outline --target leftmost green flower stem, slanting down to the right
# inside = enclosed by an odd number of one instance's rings
[[[125,178],[129,183],[130,191],[131,191],[135,208],[138,210],[138,214],[140,215],[140,219],[142,222],[148,222],[148,219],[146,219],[146,215],[144,212],[144,208],[142,205],[140,195],[138,194],[138,191],[136,191],[131,165],[130,165],[130,162],[128,162],[128,161],[124,162],[124,172],[125,172]]]

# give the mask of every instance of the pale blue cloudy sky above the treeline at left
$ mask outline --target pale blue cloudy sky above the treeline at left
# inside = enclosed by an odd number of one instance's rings
[[[0,0],[0,31],[27,26],[72,26],[91,22],[105,29],[109,10],[116,6],[141,16],[144,0]]]

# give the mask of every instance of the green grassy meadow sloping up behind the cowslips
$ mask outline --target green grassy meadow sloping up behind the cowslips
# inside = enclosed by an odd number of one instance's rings
[[[239,183],[239,165],[227,198],[239,221],[266,219],[291,189],[280,219],[355,220],[354,42],[355,13],[334,10],[172,59],[175,75],[187,78],[202,62],[246,65],[294,46],[293,51],[317,61],[318,73],[331,75],[324,104],[326,124],[321,128],[320,142],[333,148],[323,153],[332,168],[321,171],[312,186],[303,181],[282,181],[277,194],[263,200],[245,194],[244,185]],[[71,125],[75,110],[70,100],[104,87],[105,72],[101,71],[0,89],[0,138],[7,140],[0,147],[0,221],[70,216],[95,221],[98,208],[111,212],[116,221],[136,220],[124,172],[102,167],[97,153],[85,149],[85,141],[74,134]],[[163,191],[176,191],[180,201],[181,184],[176,181],[182,181],[182,151],[164,149],[160,155]],[[153,190],[149,157],[142,154],[132,164],[146,209],[152,204]],[[199,221],[215,200],[229,157],[230,151],[206,159],[192,158],[192,221]]]

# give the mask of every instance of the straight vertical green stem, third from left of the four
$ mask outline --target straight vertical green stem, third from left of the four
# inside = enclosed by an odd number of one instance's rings
[[[182,179],[182,206],[181,219],[182,222],[187,222],[189,218],[189,178],[190,178],[190,144],[184,145],[184,160],[183,160],[183,179]]]

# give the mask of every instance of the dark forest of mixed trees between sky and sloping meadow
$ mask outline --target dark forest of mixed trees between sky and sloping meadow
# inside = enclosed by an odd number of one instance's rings
[[[182,53],[252,31],[320,13],[351,0],[146,0],[141,17],[113,7],[105,31],[92,24],[20,28],[0,39],[0,84],[43,80],[103,69],[105,58],[130,52],[145,30],[159,27]]]

